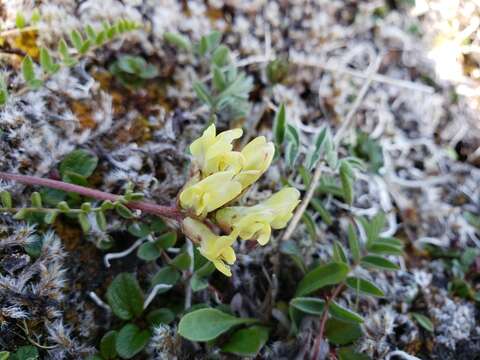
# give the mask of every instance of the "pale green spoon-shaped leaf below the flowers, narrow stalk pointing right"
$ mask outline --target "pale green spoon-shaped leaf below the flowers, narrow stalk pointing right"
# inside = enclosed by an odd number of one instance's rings
[[[237,318],[217,309],[200,309],[182,317],[178,324],[178,333],[190,341],[210,341],[234,326],[256,321]]]

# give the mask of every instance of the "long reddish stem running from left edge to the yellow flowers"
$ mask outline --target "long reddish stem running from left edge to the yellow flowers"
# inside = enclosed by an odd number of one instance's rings
[[[114,202],[121,198],[119,195],[90,189],[85,186],[68,184],[63,181],[44,179],[36,176],[9,174],[0,171],[0,179],[11,180],[27,185],[45,186],[52,189],[74,192],[97,200],[110,200]],[[163,216],[166,218],[175,219],[177,221],[181,221],[183,218],[183,214],[176,207],[172,206],[161,206],[146,201],[129,201],[127,204],[125,204],[125,206],[130,209],[141,210],[148,214]]]

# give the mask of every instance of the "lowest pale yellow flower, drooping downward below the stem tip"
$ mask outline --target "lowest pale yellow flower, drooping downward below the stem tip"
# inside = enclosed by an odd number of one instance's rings
[[[218,271],[226,276],[232,276],[228,265],[233,265],[236,260],[232,248],[236,237],[215,235],[204,223],[188,217],[183,220],[182,228],[192,241],[200,243],[198,250]]]

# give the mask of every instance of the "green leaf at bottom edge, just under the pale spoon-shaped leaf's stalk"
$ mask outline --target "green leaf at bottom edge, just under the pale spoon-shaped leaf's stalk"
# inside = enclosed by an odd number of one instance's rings
[[[254,357],[267,341],[268,328],[254,325],[234,332],[226,344],[222,346],[222,351],[241,357]]]

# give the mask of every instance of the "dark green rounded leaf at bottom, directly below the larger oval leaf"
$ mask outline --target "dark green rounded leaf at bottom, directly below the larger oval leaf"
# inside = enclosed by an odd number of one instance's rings
[[[122,359],[131,359],[137,355],[150,341],[150,330],[141,330],[137,325],[126,324],[120,329],[115,348]]]

